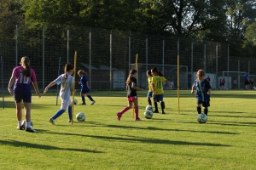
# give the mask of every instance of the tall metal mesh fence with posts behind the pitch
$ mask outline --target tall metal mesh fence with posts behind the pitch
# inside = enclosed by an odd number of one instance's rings
[[[153,66],[160,69],[165,65],[169,67],[165,77],[177,84],[177,55],[181,65],[182,89],[191,87],[199,69],[206,71],[206,76],[211,77],[212,88],[216,89],[223,77],[227,80],[227,88],[232,88],[235,79],[238,82],[236,88],[244,88],[242,76],[245,71],[256,78],[253,69],[256,59],[230,56],[229,45],[224,43],[74,26],[43,27],[37,31],[15,26],[12,37],[0,39],[0,55],[3,57],[1,84],[5,91],[22,56],[31,59],[38,87],[43,91],[58,76],[60,57],[62,73],[66,63],[73,63],[75,51],[78,53],[77,70],[87,72],[93,90],[125,89],[125,79],[136,62],[137,54],[138,63],[143,65],[138,79],[142,82],[139,84],[141,88],[147,88],[145,71]]]

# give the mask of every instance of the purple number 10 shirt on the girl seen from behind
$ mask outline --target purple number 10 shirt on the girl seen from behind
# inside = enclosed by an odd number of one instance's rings
[[[35,71],[32,70],[32,68],[30,68],[30,72],[31,72],[31,77],[26,77],[23,75],[23,66],[16,66],[12,77],[15,77],[15,86],[14,88],[18,87],[19,85],[21,86],[29,86],[30,87],[30,83],[31,82],[37,82],[37,77],[35,74]]]

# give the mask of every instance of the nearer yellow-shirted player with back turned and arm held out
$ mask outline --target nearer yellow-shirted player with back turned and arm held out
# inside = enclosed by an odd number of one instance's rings
[[[152,78],[152,97],[154,99],[154,113],[159,113],[158,107],[157,107],[157,102],[160,102],[161,106],[161,113],[166,114],[165,110],[165,102],[164,102],[164,88],[163,88],[163,82],[166,82],[171,88],[172,84],[166,80],[165,77],[163,77],[162,73],[158,71],[156,67],[151,69],[151,74],[153,76]]]

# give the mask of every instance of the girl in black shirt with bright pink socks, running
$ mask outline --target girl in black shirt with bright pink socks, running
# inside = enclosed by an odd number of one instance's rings
[[[135,121],[141,121],[138,117],[138,101],[137,101],[137,90],[143,91],[143,88],[137,88],[137,70],[131,70],[129,76],[126,80],[126,91],[128,106],[126,106],[122,111],[117,113],[117,119],[120,120],[121,116],[132,108],[132,104],[135,107]]]

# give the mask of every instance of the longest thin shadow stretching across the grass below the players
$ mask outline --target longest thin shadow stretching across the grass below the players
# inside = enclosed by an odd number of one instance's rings
[[[81,136],[87,137],[92,139],[103,139],[108,141],[119,141],[119,142],[140,142],[143,144],[177,144],[177,145],[202,145],[202,146],[231,146],[228,144],[211,144],[211,143],[199,143],[199,142],[184,142],[184,141],[177,141],[177,140],[167,140],[167,139],[148,139],[148,138],[141,138],[141,137],[133,137],[130,138],[123,138],[123,137],[112,137],[112,136],[100,136],[100,135],[88,135],[88,134],[75,134],[75,133],[58,133],[58,132],[47,132],[48,134],[58,134],[58,135],[70,135],[70,136]],[[129,136],[128,136],[129,137]]]

